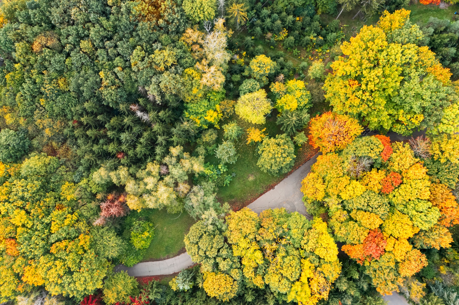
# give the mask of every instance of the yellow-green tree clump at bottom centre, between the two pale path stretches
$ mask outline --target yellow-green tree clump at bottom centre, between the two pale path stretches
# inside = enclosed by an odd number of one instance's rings
[[[213,211],[191,226],[185,246],[201,263],[209,296],[227,301],[244,287],[269,289],[278,301],[326,300],[341,272],[338,249],[321,218],[308,221],[284,208],[231,211],[226,222]],[[226,240],[224,239],[226,238]]]

